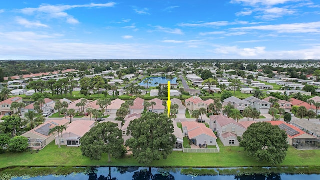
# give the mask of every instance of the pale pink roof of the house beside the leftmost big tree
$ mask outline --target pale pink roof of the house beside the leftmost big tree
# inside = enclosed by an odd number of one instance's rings
[[[94,123],[94,120],[75,120],[67,126],[66,130],[63,132],[63,138],[67,139],[74,135],[82,137],[94,126]]]

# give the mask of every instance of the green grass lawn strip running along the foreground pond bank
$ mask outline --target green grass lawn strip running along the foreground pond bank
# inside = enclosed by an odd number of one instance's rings
[[[267,162],[257,162],[248,157],[243,148],[225,147],[217,140],[220,153],[183,153],[173,151],[167,159],[153,161],[152,167],[243,167],[270,166]],[[201,160],[199,160],[201,159]],[[38,153],[4,153],[0,154],[0,168],[10,166],[141,166],[132,155],[107,162],[107,154],[101,160],[90,160],[82,155],[78,147],[62,146],[50,143]],[[289,147],[285,160],[279,166],[320,166],[320,150],[296,150]]]

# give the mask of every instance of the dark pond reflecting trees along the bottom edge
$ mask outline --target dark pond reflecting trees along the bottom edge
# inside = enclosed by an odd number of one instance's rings
[[[36,167],[34,167],[36,168]],[[52,167],[53,168],[53,167]],[[235,169],[235,168],[225,168]],[[34,169],[35,170],[35,169]],[[198,170],[217,170],[216,168],[194,168]],[[221,173],[221,172],[220,172]],[[14,177],[12,179],[89,179],[89,180],[116,180],[116,179],[153,179],[153,180],[178,180],[178,179],[320,179],[319,174],[285,174],[285,173],[244,173],[242,175],[198,175],[197,172],[189,174],[187,168],[148,168],[148,167],[87,167],[82,173],[71,173],[69,175],[47,175],[38,177]]]

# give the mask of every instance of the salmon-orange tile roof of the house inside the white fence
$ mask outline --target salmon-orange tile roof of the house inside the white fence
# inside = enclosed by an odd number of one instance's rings
[[[208,136],[211,136],[212,138],[217,139],[212,129],[206,127],[204,123],[185,121],[182,122],[182,127],[187,128],[188,136],[190,139],[197,137],[201,134],[206,134]]]

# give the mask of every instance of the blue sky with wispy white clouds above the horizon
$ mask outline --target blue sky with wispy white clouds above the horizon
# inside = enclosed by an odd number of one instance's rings
[[[0,59],[320,59],[319,0],[1,0]]]

